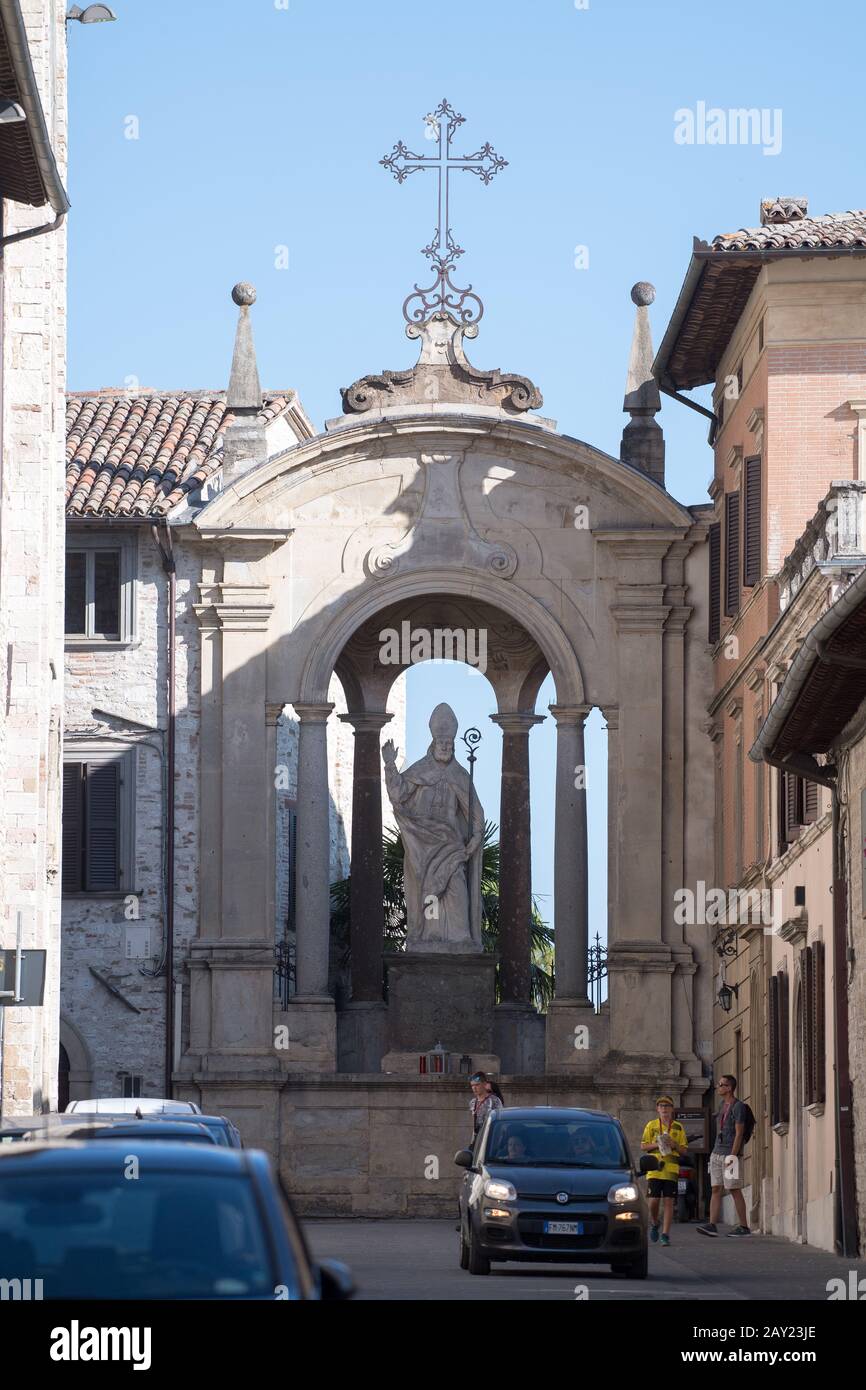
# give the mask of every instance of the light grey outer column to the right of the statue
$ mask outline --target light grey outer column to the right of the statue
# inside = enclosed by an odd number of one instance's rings
[[[556,998],[585,1006],[589,902],[587,874],[588,705],[550,705],[556,720],[556,831],[553,841],[553,926]]]

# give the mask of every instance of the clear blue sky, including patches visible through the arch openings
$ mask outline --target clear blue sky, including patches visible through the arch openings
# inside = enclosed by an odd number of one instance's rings
[[[657,288],[657,343],[694,235],[755,225],[765,196],[808,195],[817,213],[866,202],[862,0],[113,3],[117,24],[68,26],[74,389],[224,385],[238,279],[259,291],[263,382],[293,386],[317,424],[339,414],[339,386],[410,366],[400,304],[427,265],[432,178],[399,186],[378,160],[399,138],[423,145],[443,96],[467,118],[466,150],[491,140],[509,160],[489,188],[457,185],[460,268],[485,302],[471,359],[530,375],[544,414],[613,455],[634,281]],[[677,145],[674,111],[698,101],[780,108],[781,153]],[[588,270],[574,268],[578,245]],[[670,491],[706,500],[705,421],[669,402],[662,423]],[[414,671],[411,756],[434,695],[485,731],[495,819],[489,689],[471,671]],[[552,730],[531,737],[546,903]],[[589,745],[592,778],[603,737]],[[603,770],[595,783],[603,934]]]

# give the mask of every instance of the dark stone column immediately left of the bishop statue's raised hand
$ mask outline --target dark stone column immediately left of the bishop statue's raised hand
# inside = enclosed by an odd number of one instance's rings
[[[382,755],[385,712],[341,714],[354,730],[352,769],[352,1002],[382,1002]]]

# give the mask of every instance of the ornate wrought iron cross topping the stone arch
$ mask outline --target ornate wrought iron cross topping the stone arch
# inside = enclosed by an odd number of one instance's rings
[[[438,175],[439,220],[432,240],[421,247],[423,254],[432,263],[436,278],[424,289],[416,285],[413,293],[406,296],[403,318],[407,324],[427,322],[432,314],[441,311],[452,314],[461,324],[471,324],[484,313],[484,304],[478,295],[473,293],[473,286],[460,289],[450,278],[457,259],[463,256],[463,246],[457,243],[450,227],[450,174],[452,170],[475,174],[482,183],[489,183],[499,170],[506,167],[507,160],[496,154],[489,142],[474,154],[453,154],[452,140],[464,121],[466,117],[455,111],[448,100],[442,100],[435,111],[424,117],[427,138],[436,143],[434,153],[416,154],[398,140],[391,154],[379,160],[379,164],[391,170],[398,183],[405,183],[410,174],[417,174],[420,170],[435,170]],[[413,300],[417,300],[417,304],[410,311]]]

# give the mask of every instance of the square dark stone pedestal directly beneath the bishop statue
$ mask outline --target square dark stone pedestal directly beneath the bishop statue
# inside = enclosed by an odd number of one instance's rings
[[[416,951],[386,955],[388,1047],[392,1052],[491,1054],[493,1048],[492,955]]]

